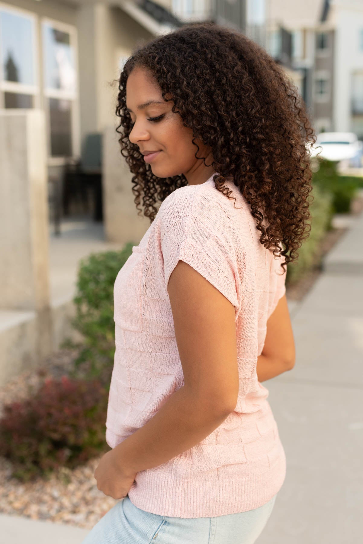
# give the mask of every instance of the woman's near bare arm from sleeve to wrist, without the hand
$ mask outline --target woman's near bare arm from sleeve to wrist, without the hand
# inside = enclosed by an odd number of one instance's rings
[[[234,306],[184,261],[171,273],[168,294],[184,385],[145,425],[114,448],[126,474],[159,466],[196,446],[237,403]]]

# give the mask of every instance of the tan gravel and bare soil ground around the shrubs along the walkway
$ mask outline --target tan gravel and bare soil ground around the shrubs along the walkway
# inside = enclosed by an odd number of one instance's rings
[[[362,209],[363,197],[354,202],[353,215]],[[328,232],[321,255],[329,251],[345,231],[346,228],[338,228]],[[287,297],[302,300],[320,272],[317,267],[294,286],[286,286]],[[39,369],[23,372],[8,382],[0,389],[0,412],[3,404],[26,398],[47,376],[67,375],[75,356],[74,350],[60,350],[48,357]],[[97,489],[93,473],[99,459],[101,456],[73,470],[61,468],[48,480],[37,478],[21,484],[11,477],[11,463],[0,458],[0,512],[91,529],[118,502]]]

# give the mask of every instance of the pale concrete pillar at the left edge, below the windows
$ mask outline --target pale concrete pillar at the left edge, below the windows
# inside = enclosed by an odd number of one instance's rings
[[[0,111],[0,308],[36,312],[37,356],[51,353],[45,113]]]

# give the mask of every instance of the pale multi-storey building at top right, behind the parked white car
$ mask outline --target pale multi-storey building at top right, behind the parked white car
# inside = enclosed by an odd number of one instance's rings
[[[363,0],[269,0],[268,27],[292,36],[292,66],[316,132],[363,139]],[[275,36],[270,34],[273,50]],[[280,40],[281,42],[281,40]]]

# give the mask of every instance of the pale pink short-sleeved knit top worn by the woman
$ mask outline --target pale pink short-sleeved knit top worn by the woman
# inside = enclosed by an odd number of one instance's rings
[[[286,474],[268,390],[256,375],[266,322],[285,294],[286,273],[281,257],[259,242],[240,190],[227,182],[236,202],[228,200],[213,177],[166,197],[114,286],[116,351],[106,422],[111,448],[184,384],[167,292],[178,261],[190,264],[235,307],[235,410],[196,446],[138,472],[128,492],[137,508],[162,516],[214,517],[258,508],[280,490]]]

